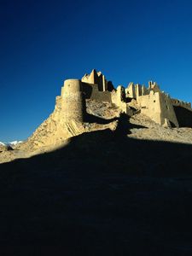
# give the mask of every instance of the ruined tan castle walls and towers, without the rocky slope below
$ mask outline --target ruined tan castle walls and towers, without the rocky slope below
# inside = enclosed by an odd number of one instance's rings
[[[68,79],[61,88],[57,104],[61,106],[65,119],[84,121],[87,99],[110,102],[128,115],[143,113],[154,122],[166,127],[179,127],[179,108],[192,111],[191,104],[172,99],[155,82],[148,82],[148,88],[141,84],[119,85],[117,89],[101,72],[92,70],[82,79]]]

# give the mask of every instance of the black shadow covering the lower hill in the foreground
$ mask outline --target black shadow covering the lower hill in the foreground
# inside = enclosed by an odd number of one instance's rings
[[[192,146],[131,139],[130,126],[0,165],[4,254],[191,255]]]

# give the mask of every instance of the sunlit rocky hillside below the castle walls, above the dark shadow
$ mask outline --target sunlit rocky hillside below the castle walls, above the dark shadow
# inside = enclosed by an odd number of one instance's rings
[[[165,128],[154,123],[147,116],[137,113],[131,117],[120,113],[119,108],[108,102],[87,100],[87,115],[84,123],[62,118],[60,99],[57,99],[55,110],[49,118],[38,127],[26,142],[15,145],[15,150],[1,146],[0,163],[17,158],[27,158],[34,154],[61,148],[70,142],[70,138],[92,131],[110,129],[116,131],[119,119],[124,119],[123,132],[126,137],[151,141],[192,144],[191,128]],[[9,148],[10,149],[10,148]]]

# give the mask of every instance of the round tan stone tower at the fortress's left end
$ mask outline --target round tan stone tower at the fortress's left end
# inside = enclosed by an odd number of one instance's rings
[[[84,121],[86,113],[85,98],[79,79],[67,79],[61,89],[62,112],[67,120]]]

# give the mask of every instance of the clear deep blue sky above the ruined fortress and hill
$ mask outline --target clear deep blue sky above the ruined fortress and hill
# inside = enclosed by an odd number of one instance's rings
[[[191,0],[0,0],[0,27],[0,141],[30,136],[92,68],[192,102]]]

